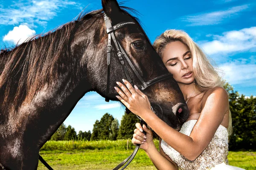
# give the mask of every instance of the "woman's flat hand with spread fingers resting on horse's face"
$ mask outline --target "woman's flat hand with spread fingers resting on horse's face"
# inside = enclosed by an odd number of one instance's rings
[[[127,88],[121,82],[116,82],[116,84],[122,89],[121,91],[119,88],[114,87],[117,93],[120,95],[116,96],[116,98],[119,99],[132,113],[140,117],[143,115],[143,113],[148,113],[148,111],[151,111],[148,97],[143,94],[136,85],[134,85],[134,89],[127,80],[122,80]]]

